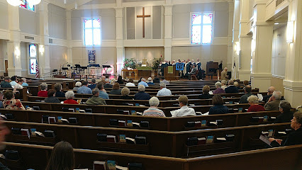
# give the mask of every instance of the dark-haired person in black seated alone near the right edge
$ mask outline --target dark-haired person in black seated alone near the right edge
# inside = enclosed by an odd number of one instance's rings
[[[288,123],[293,118],[293,112],[291,112],[291,103],[288,101],[281,101],[279,104],[279,111],[281,115],[278,115],[274,120],[274,123]]]

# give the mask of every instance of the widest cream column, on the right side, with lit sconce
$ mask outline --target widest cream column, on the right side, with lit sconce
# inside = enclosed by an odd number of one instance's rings
[[[266,91],[272,79],[273,23],[266,22],[266,3],[255,1],[252,38],[252,88]]]

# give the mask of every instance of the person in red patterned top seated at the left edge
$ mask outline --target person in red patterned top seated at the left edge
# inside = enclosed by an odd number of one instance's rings
[[[19,99],[15,99],[15,95],[13,94],[13,91],[8,90],[4,93],[5,100],[3,101],[3,106],[6,109],[12,109],[12,110],[25,110],[24,106],[22,105],[21,101]]]

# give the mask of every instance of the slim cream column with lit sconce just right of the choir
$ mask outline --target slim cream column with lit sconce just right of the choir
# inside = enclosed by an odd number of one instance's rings
[[[240,22],[240,0],[234,1],[234,16],[233,16],[233,55],[231,60],[232,79],[237,79],[238,54],[239,54],[239,25]],[[228,60],[229,62],[229,60]],[[234,63],[236,67],[234,67]]]

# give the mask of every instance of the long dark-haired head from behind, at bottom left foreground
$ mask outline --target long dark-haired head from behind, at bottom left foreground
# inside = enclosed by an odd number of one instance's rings
[[[69,142],[57,142],[50,154],[46,170],[73,170],[75,166],[74,149]]]

